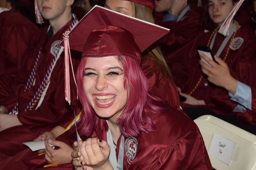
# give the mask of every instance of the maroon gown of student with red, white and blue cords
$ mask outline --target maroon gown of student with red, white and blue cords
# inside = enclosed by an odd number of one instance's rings
[[[77,95],[76,95],[76,89],[73,81],[73,77],[71,76],[71,105],[68,104],[65,100],[64,96],[64,53],[60,56],[60,58],[57,60],[55,67],[51,73],[50,78],[50,84],[47,89],[47,92],[45,94],[42,94],[41,98],[44,96],[44,99],[40,105],[40,107],[37,107],[40,100],[38,99],[36,104],[34,105],[31,110],[25,111],[27,108],[29,102],[31,102],[32,98],[36,94],[36,91],[38,91],[38,87],[40,87],[42,80],[45,77],[45,74],[51,65],[51,62],[53,60],[53,55],[51,54],[51,45],[54,44],[56,40],[63,39],[62,33],[64,33],[65,30],[67,30],[73,22],[72,20],[69,21],[63,28],[61,28],[48,42],[47,42],[47,28],[43,28],[40,30],[36,35],[37,40],[35,42],[36,48],[32,49],[31,55],[35,55],[40,50],[40,47],[42,47],[41,55],[38,60],[38,66],[36,69],[36,75],[35,75],[35,85],[31,87],[26,92],[23,92],[19,94],[16,98],[14,98],[14,103],[18,103],[18,119],[22,123],[22,126],[15,126],[12,128],[5,129],[4,131],[0,132],[0,152],[4,155],[13,155],[16,154],[18,151],[23,150],[24,146],[21,144],[22,142],[28,142],[33,141],[36,137],[41,135],[44,131],[50,131],[55,126],[60,125],[62,127],[66,127],[68,123],[73,120],[74,115],[74,108],[76,106],[79,107],[79,104],[77,103]],[[57,43],[57,45],[60,42]],[[39,47],[40,45],[40,47]],[[39,48],[37,48],[39,47]],[[36,55],[37,56],[37,55]],[[77,56],[76,59],[75,57]],[[80,55],[73,55],[73,68],[74,71],[76,71],[79,62],[80,62]],[[21,81],[25,81],[25,83],[28,81],[27,74],[30,74],[30,72],[26,72],[26,68],[31,68],[34,66],[33,61],[35,61],[36,58],[32,58],[31,60],[27,60],[27,63],[23,65],[23,68],[21,69],[21,73],[24,75]],[[32,66],[31,66],[32,65]],[[21,82],[20,81],[20,82]],[[18,84],[21,86],[21,89],[24,90],[24,84]],[[13,106],[13,102],[10,104]],[[11,108],[7,107],[8,109]],[[9,110],[11,111],[11,109]],[[62,119],[63,118],[63,119]],[[65,119],[64,119],[65,118]],[[17,135],[17,132],[18,135]],[[15,140],[14,140],[15,139]],[[11,148],[7,148],[6,146],[12,146]],[[0,154],[0,156],[1,156]],[[0,158],[1,159],[1,158]]]

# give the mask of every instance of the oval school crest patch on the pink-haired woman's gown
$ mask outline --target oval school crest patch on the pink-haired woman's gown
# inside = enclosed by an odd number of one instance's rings
[[[138,149],[138,142],[134,137],[129,137],[125,141],[125,152],[126,152],[126,158],[129,164],[133,161],[137,154]]]

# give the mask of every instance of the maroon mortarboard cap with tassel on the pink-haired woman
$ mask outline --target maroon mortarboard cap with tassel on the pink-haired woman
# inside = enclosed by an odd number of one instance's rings
[[[94,6],[73,30],[64,34],[61,45],[65,47],[65,68],[69,70],[69,48],[82,52],[82,58],[122,55],[140,62],[141,52],[168,32],[167,28]],[[65,89],[70,89],[69,73],[65,76]],[[67,101],[69,93],[67,90]]]

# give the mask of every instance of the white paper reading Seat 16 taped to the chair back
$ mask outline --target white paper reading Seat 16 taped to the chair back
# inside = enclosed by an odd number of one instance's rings
[[[209,148],[209,154],[229,165],[235,151],[235,146],[236,143],[214,134]]]

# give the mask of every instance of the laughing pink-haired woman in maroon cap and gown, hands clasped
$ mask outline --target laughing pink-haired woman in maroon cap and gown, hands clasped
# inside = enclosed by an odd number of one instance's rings
[[[104,22],[87,26],[91,20]],[[76,168],[212,169],[194,122],[148,92],[141,51],[166,33],[95,7],[68,34],[70,48],[82,52],[77,85],[84,142],[72,153]]]

